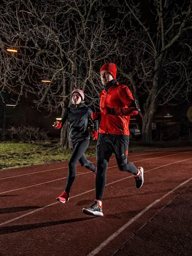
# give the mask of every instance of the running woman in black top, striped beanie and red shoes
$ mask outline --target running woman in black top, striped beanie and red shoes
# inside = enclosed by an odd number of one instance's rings
[[[79,161],[81,166],[85,166],[87,169],[96,173],[96,167],[87,160],[84,152],[89,145],[89,132],[88,132],[88,119],[91,117],[93,111],[84,103],[84,92],[80,89],[75,89],[71,93],[72,105],[66,108],[61,121],[56,121],[54,127],[61,129],[66,120],[69,123],[70,140],[73,145],[73,152],[69,161],[69,172],[67,176],[67,185],[64,192],[56,198],[61,203],[65,203],[69,200],[70,188],[76,177],[76,165]],[[98,121],[93,122],[93,140],[98,136]]]

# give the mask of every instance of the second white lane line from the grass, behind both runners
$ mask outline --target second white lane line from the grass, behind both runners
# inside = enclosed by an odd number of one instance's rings
[[[188,152],[185,152],[185,153],[188,153]],[[178,153],[178,154],[182,154],[182,153]],[[134,161],[134,162],[132,162],[132,163],[137,163],[137,162],[141,162],[141,161],[146,161],[146,160],[151,160],[151,159],[157,159],[157,158],[162,158],[162,157],[169,157],[169,156],[173,156],[173,155],[175,155],[175,154],[170,154],[170,155],[161,156],[161,157],[152,157],[152,158],[143,159],[143,160],[137,160],[137,161]],[[190,159],[190,158],[189,158],[189,159]],[[183,160],[181,160],[181,161],[183,161]],[[167,165],[169,165],[169,164],[167,164]],[[166,165],[165,165],[165,166],[166,166]],[[108,167],[108,169],[115,168],[115,167],[117,167],[117,165]],[[162,167],[162,166],[160,166],[160,167]],[[157,168],[159,168],[159,167],[157,167]],[[154,169],[157,169],[157,168],[154,168]],[[154,170],[154,169],[150,169],[150,170]],[[149,170],[149,171],[150,171],[150,170]],[[148,171],[145,171],[145,172],[148,172]],[[87,174],[87,173],[91,173],[91,172],[84,172],[84,173],[78,174],[78,175],[76,175],[76,176],[84,175],[84,174]],[[8,191],[0,192],[0,195],[1,195],[1,194],[8,193],[8,192],[17,191],[17,190],[20,190],[20,189],[27,189],[27,188],[31,188],[31,187],[34,187],[34,186],[41,186],[41,185],[44,185],[44,184],[47,184],[47,183],[52,183],[52,182],[55,182],[55,181],[58,181],[58,180],[66,179],[66,178],[67,178],[67,177],[62,177],[62,178],[59,178],[59,179],[56,179],[56,180],[49,180],[49,181],[46,181],[46,182],[42,182],[42,183],[30,185],[30,186],[25,186],[25,187],[18,188],[18,189],[12,189],[12,190],[8,190]],[[127,179],[127,177],[125,177],[125,179]]]

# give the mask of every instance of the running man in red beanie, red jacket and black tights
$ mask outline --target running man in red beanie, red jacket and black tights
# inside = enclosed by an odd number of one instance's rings
[[[106,170],[114,153],[121,171],[134,174],[136,187],[143,186],[143,168],[127,162],[130,116],[138,109],[128,86],[116,81],[116,65],[106,63],[100,69],[104,89],[100,93],[100,113],[92,113],[92,119],[99,119],[97,141],[96,199],[91,207],[84,207],[84,214],[103,216],[102,196],[106,183]]]

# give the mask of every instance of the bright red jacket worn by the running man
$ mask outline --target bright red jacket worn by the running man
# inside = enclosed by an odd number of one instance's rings
[[[129,107],[134,102],[133,95],[128,86],[117,84],[100,93],[101,122],[99,133],[129,135],[130,116],[137,115],[134,107]],[[114,108],[115,115],[106,114],[106,109]]]

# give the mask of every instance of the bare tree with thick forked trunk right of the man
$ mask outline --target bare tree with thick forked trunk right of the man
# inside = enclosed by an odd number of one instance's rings
[[[191,1],[146,1],[145,7],[125,3],[125,36],[116,54],[121,57],[119,70],[142,102],[142,138],[150,142],[157,107],[178,105],[192,96]]]

